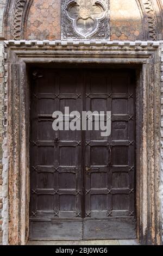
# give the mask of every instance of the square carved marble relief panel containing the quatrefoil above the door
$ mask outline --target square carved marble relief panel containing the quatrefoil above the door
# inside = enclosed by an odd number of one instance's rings
[[[108,0],[61,0],[62,39],[109,39]]]

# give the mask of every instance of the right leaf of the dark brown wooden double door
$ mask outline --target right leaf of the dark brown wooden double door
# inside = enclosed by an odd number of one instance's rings
[[[97,87],[102,88],[98,94]],[[85,170],[84,239],[135,238],[134,103],[128,72],[87,71],[86,110],[111,111],[112,129],[109,137],[99,137],[95,130],[85,132],[89,172]]]

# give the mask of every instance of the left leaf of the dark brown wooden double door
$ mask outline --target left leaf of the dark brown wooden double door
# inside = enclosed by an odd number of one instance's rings
[[[82,239],[82,131],[52,129],[54,111],[82,112],[82,79],[80,72],[40,73],[31,93],[30,239]]]

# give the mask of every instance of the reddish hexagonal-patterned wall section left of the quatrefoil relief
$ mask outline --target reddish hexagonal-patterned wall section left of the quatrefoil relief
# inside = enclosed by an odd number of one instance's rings
[[[60,0],[34,0],[29,10],[26,39],[60,39]]]

